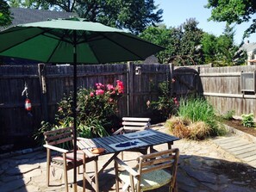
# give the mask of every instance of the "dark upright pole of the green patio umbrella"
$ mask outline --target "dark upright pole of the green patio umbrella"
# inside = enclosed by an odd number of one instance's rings
[[[74,176],[73,176],[73,189],[74,192],[78,191],[77,183],[77,33],[73,32],[73,117],[74,117]]]

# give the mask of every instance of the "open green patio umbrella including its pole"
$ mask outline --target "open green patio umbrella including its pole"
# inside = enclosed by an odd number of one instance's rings
[[[144,60],[164,48],[117,28],[81,18],[18,25],[0,32],[0,56],[73,67],[74,147],[77,143],[77,64]],[[77,157],[74,150],[74,158]],[[76,161],[75,161],[76,162]],[[76,165],[76,164],[75,164]],[[77,171],[74,169],[74,189]]]

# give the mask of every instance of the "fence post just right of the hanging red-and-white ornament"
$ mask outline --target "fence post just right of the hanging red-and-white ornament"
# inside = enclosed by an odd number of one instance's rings
[[[46,65],[38,64],[38,74],[41,85],[41,113],[43,121],[48,121],[46,73]]]

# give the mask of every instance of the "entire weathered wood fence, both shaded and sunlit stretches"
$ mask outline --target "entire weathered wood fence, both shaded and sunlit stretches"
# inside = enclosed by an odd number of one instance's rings
[[[147,101],[159,96],[158,84],[175,79],[172,96],[200,94],[224,114],[256,115],[256,96],[253,91],[241,91],[246,84],[254,84],[252,77],[241,85],[241,72],[255,74],[256,66],[209,67],[199,65],[173,67],[172,65],[79,65],[78,87],[93,88],[96,83],[116,84],[121,80],[125,93],[119,102],[118,115],[152,117]],[[57,102],[73,89],[73,67],[70,65],[19,65],[0,66],[0,146],[19,139],[33,140],[32,134],[41,127],[41,121],[53,121]],[[254,76],[255,78],[255,76]],[[248,82],[247,82],[248,81]],[[253,83],[252,83],[253,81]],[[32,102],[31,115],[24,109],[28,85],[28,98]],[[152,117],[154,118],[154,116]]]

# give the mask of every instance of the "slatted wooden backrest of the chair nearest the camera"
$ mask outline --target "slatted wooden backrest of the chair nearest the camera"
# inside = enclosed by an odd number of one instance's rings
[[[139,178],[143,174],[153,172],[156,170],[163,170],[166,169],[170,171],[172,174],[172,181],[171,186],[174,187],[176,182],[176,174],[177,174],[177,168],[178,168],[178,157],[179,157],[179,150],[176,149],[170,149],[165,150],[162,152],[153,152],[147,155],[140,156],[137,158],[138,164],[138,174]],[[140,188],[140,179],[137,183],[137,190],[140,191],[138,188]]]

